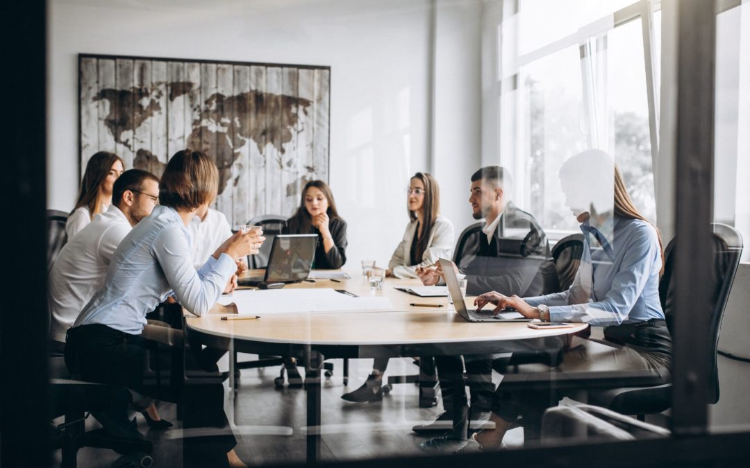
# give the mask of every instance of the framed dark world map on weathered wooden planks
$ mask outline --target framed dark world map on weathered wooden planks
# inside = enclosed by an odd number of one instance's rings
[[[230,225],[290,216],[329,177],[330,67],[80,54],[80,172],[97,151],[160,176],[200,149]]]

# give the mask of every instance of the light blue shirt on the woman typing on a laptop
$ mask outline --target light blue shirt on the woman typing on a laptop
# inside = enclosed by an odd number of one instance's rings
[[[568,291],[526,298],[550,308],[550,320],[592,326],[664,319],[658,297],[661,249],[655,228],[640,219],[615,216],[598,226],[599,243],[587,223],[583,256]],[[598,234],[596,234],[598,235]]]

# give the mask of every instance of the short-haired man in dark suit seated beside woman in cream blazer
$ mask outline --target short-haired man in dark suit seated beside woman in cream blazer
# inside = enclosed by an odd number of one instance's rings
[[[467,281],[466,294],[499,291],[508,296],[537,296],[556,292],[557,276],[547,235],[534,216],[509,200],[511,178],[499,165],[476,171],[471,177],[474,219],[484,219],[463,232],[456,245],[458,278]],[[443,282],[440,267],[418,270],[425,285]],[[417,433],[452,429],[446,436],[428,440],[424,449],[460,448],[466,431],[487,428],[492,410],[493,356],[437,356],[435,358],[444,412],[429,425],[417,425]],[[468,411],[463,365],[469,377],[471,411]]]

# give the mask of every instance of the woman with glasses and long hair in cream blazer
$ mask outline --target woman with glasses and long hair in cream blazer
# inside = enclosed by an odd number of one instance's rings
[[[440,188],[431,174],[417,172],[407,190],[409,224],[404,238],[393,252],[387,276],[419,278],[418,267],[429,267],[438,258],[450,258],[453,249],[453,224],[438,214]],[[388,358],[375,359],[373,371],[359,389],[341,396],[344,400],[364,403],[383,399],[383,372]]]

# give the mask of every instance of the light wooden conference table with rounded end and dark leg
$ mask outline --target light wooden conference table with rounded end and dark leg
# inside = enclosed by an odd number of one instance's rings
[[[314,279],[285,289],[329,288],[358,297],[386,297],[390,307],[330,313],[259,310],[253,311],[253,316],[259,315],[260,320],[221,320],[236,315],[236,307],[217,305],[202,317],[185,319],[186,332],[202,344],[242,353],[296,356],[304,363],[308,464],[320,460],[320,373],[326,359],[511,353],[534,338],[570,336],[588,328],[585,323],[560,329],[531,329],[527,322],[469,323],[449,305],[447,297],[417,297],[395,289],[422,286],[419,279],[386,278],[383,289],[375,291],[361,272],[347,273],[348,278],[337,281]],[[472,307],[473,298],[467,297],[466,303]]]

